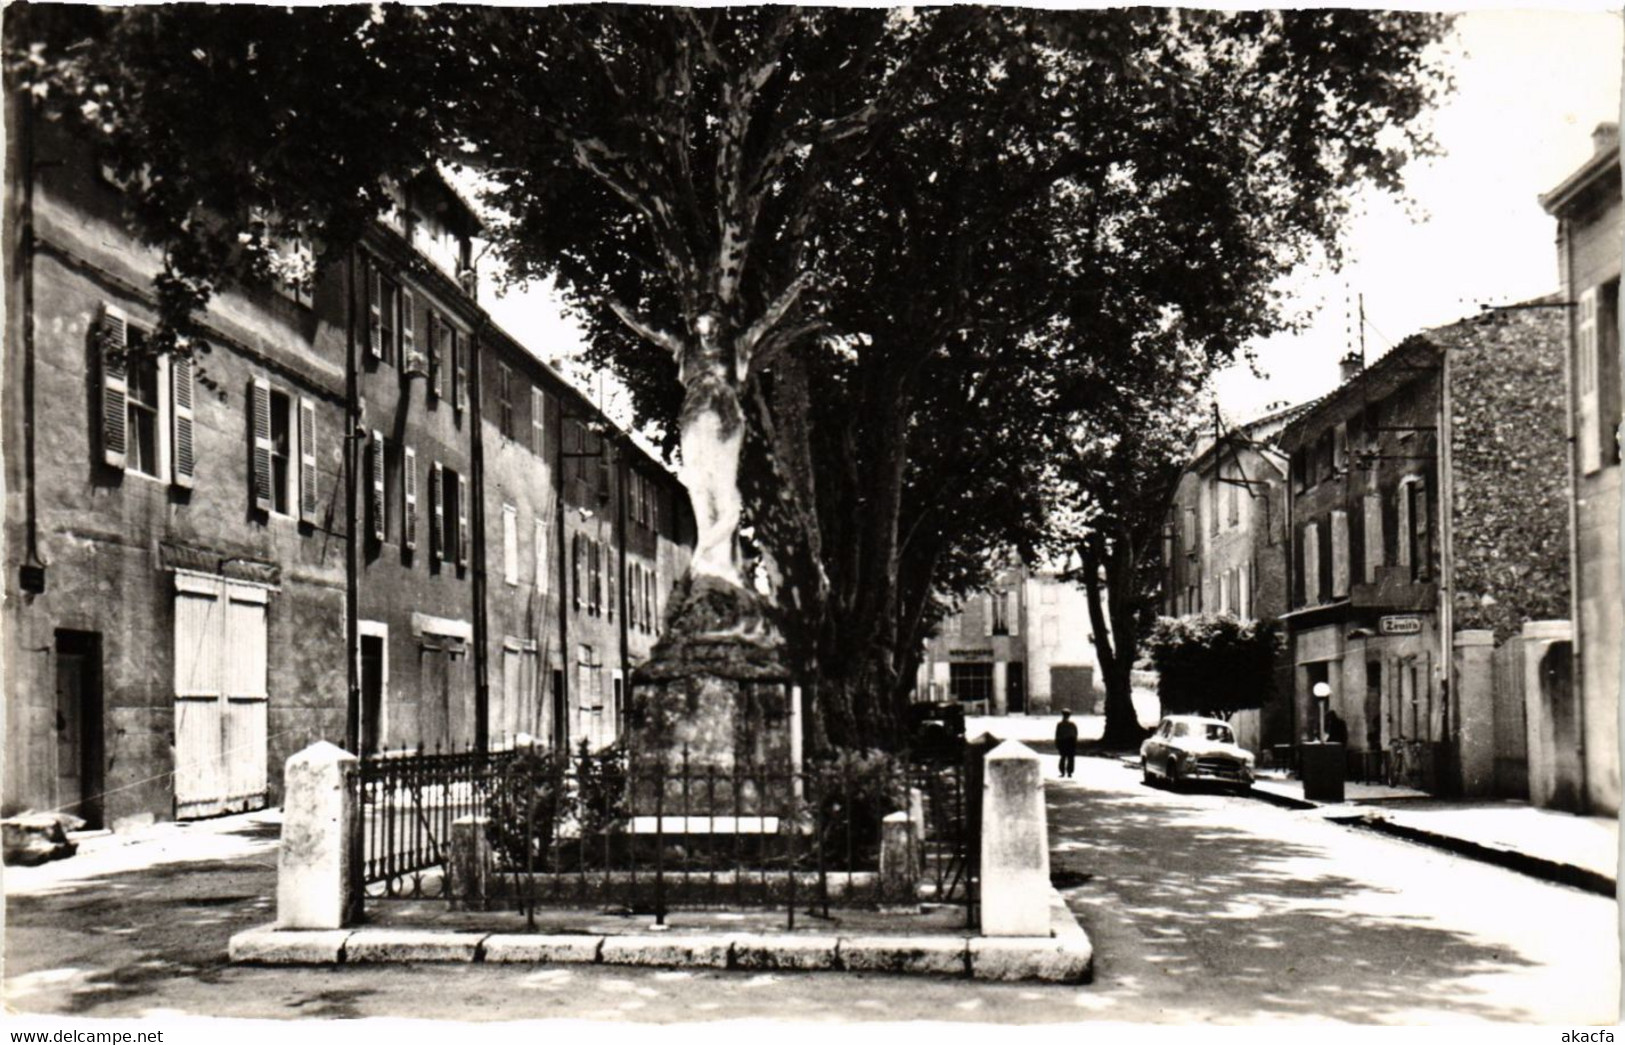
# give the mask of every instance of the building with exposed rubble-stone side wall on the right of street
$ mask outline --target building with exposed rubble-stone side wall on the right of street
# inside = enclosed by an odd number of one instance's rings
[[[1497,707],[1484,658],[1566,609],[1557,304],[1407,338],[1282,434],[1298,739],[1326,683],[1352,751],[1427,790],[1516,791],[1523,697]]]

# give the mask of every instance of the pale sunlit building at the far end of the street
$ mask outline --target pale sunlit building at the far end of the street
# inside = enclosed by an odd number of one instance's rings
[[[1090,712],[1103,692],[1092,634],[1081,585],[1003,569],[926,640],[913,699],[991,715]]]

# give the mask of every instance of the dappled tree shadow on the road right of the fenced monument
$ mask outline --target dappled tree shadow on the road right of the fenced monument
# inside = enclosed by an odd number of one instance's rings
[[[1126,774],[1124,774],[1126,775]],[[1354,878],[1305,874],[1320,848],[1216,824],[1212,800],[1150,790],[1050,788],[1051,860],[1061,876],[1092,874],[1068,889],[1086,928],[1110,905],[1146,943],[1160,983],[1228,993],[1240,1016],[1323,1016],[1349,1022],[1402,1019],[1450,1009],[1521,1019],[1477,988],[1453,983],[1529,962],[1410,913],[1378,917],[1354,897],[1398,895]],[[1102,899],[1102,891],[1107,894]],[[1401,904],[1376,904],[1376,907]],[[1097,939],[1097,990],[1144,990],[1141,977],[1113,983],[1113,954]]]

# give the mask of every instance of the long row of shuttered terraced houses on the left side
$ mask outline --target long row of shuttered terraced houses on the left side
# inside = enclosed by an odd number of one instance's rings
[[[159,257],[86,143],[10,115],[5,811],[275,803],[351,704],[366,751],[613,739],[687,497],[479,309],[457,195],[419,177],[312,283],[223,289],[195,359],[125,356]]]

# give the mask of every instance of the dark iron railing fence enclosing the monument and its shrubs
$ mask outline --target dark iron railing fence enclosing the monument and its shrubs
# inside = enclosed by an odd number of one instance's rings
[[[975,923],[978,757],[843,756],[791,765],[629,757],[419,752],[359,772],[366,895],[440,897],[526,915],[572,907],[798,908],[959,904]],[[882,821],[916,821],[910,873],[881,868]],[[907,884],[899,884],[907,882]],[[918,886],[918,894],[915,887]],[[902,889],[910,895],[900,895]]]

